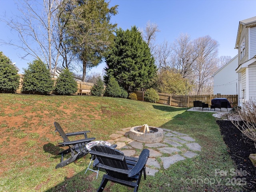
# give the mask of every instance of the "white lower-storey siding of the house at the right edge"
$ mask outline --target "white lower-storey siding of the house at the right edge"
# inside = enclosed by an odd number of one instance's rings
[[[250,65],[249,67],[249,96],[247,99],[256,99],[256,64]]]

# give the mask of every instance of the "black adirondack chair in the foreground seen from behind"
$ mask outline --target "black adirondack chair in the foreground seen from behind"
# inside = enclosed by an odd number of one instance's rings
[[[139,158],[124,156],[124,153],[112,148],[111,146],[93,146],[90,154],[96,156],[94,166],[103,168],[107,174],[104,174],[102,182],[97,192],[102,192],[108,182],[116,182],[125,186],[134,188],[138,191],[142,172],[146,179],[146,162],[149,156],[149,150],[142,150]]]

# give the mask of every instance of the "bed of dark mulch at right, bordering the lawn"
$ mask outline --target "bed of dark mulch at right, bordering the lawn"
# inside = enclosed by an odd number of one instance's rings
[[[246,171],[242,177],[246,178],[244,192],[256,192],[256,167],[249,159],[250,154],[256,153],[254,142],[244,136],[231,121],[218,120],[223,140],[228,146],[229,154],[237,165],[238,170]]]

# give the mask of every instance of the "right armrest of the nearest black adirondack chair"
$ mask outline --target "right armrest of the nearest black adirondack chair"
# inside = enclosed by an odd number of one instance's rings
[[[146,165],[146,162],[148,160],[148,156],[149,156],[149,150],[148,149],[144,149],[142,150],[137,163],[135,164],[135,166],[131,169],[130,173],[128,174],[128,177],[133,177],[136,174],[138,174]]]

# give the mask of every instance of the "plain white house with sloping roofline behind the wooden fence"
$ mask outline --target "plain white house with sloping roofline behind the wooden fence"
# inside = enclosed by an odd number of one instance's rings
[[[238,74],[235,69],[238,66],[238,55],[222,66],[213,75],[213,94],[237,95],[238,94]]]

